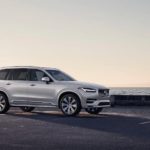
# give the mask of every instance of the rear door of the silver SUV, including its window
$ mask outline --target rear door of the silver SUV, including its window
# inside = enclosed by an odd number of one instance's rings
[[[29,104],[27,101],[28,69],[12,69],[6,81],[10,101],[15,105]]]

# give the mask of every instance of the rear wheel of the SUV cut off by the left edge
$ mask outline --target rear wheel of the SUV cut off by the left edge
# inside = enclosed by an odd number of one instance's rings
[[[8,98],[5,94],[0,93],[0,114],[6,113],[10,108]]]

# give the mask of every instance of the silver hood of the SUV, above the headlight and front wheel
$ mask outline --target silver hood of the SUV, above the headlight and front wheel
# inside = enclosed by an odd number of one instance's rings
[[[84,88],[96,88],[96,89],[107,89],[106,87],[98,84],[80,82],[80,81],[61,81],[61,83],[76,86],[76,87],[84,87]]]

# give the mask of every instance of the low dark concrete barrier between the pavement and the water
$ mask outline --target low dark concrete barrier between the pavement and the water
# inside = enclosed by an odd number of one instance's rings
[[[111,105],[150,106],[150,95],[111,95]]]

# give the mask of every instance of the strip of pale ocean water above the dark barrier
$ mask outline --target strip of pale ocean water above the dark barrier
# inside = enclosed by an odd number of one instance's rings
[[[150,95],[150,87],[117,87],[110,88],[110,95]]]

